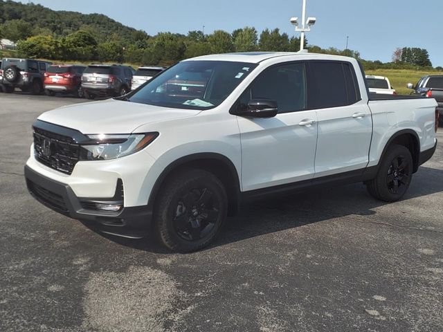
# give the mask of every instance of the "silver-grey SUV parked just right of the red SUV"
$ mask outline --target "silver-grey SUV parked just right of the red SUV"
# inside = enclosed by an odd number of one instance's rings
[[[134,69],[118,64],[90,64],[82,75],[84,96],[94,99],[96,96],[125,95],[131,91]]]

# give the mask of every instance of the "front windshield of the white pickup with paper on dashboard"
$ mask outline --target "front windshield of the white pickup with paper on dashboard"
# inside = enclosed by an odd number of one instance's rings
[[[148,81],[128,100],[177,109],[212,109],[256,66],[228,61],[180,62]]]

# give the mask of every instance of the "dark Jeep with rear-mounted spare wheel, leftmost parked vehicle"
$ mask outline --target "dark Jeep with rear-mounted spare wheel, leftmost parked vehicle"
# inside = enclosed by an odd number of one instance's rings
[[[3,58],[1,61],[1,84],[7,93],[15,88],[33,94],[43,92],[44,73],[52,62],[35,59]]]

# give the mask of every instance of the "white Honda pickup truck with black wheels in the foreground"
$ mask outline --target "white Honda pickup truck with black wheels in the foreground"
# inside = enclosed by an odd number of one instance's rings
[[[123,97],[39,116],[28,190],[102,232],[156,232],[181,252],[207,246],[240,203],[265,195],[362,182],[397,201],[433,156],[437,103],[371,98],[349,57],[187,59]]]

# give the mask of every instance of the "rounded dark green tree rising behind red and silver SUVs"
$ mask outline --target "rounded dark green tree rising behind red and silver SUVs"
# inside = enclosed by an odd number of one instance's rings
[[[97,42],[87,31],[77,31],[62,39],[63,58],[92,60],[97,58]]]

